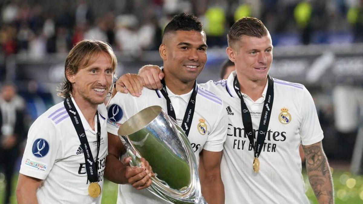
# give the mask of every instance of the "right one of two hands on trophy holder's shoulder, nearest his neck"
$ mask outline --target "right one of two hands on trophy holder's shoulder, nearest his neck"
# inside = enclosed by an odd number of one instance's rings
[[[163,71],[156,65],[145,65],[138,74],[144,81],[144,86],[148,89],[161,89],[160,80],[164,78]]]

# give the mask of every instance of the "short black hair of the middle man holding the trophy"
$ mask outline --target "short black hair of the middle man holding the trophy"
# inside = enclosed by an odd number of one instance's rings
[[[175,32],[177,30],[195,30],[201,32],[203,30],[202,26],[203,24],[200,23],[199,19],[194,14],[180,13],[175,15],[173,19],[166,25],[163,36],[165,36],[167,33]]]

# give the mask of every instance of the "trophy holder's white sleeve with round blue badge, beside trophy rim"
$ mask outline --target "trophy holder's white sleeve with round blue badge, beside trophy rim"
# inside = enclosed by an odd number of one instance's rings
[[[107,106],[107,132],[117,135],[118,128],[136,113],[136,103],[129,94],[117,92]]]

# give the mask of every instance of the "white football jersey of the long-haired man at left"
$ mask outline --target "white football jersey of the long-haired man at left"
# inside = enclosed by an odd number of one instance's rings
[[[97,116],[92,130],[76,102],[87,140],[95,160],[97,153]],[[103,190],[103,173],[107,156],[107,110],[98,105],[101,124],[101,146],[98,155],[98,184]],[[88,195],[85,156],[81,143],[64,103],[58,103],[40,115],[29,129],[28,139],[20,167],[20,174],[42,179],[37,190],[39,203],[101,203]],[[101,192],[102,193],[102,192]]]

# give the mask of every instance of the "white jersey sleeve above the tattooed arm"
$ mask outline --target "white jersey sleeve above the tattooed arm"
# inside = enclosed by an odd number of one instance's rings
[[[305,87],[303,89],[301,115],[300,134],[302,145],[310,145],[321,141],[324,135],[319,123],[318,113],[313,97]]]

